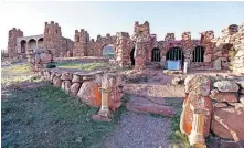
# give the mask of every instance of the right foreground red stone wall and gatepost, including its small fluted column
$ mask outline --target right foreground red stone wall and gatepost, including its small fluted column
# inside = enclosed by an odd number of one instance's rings
[[[190,75],[184,84],[180,129],[191,146],[206,147],[210,130],[222,138],[244,140],[244,80]]]

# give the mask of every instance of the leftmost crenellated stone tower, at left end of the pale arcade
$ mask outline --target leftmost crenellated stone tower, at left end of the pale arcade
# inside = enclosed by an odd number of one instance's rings
[[[17,38],[23,36],[23,32],[20,29],[13,28],[9,31],[8,54],[9,57],[13,57],[18,53]]]

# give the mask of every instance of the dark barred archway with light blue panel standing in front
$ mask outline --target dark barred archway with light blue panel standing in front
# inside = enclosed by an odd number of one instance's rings
[[[166,60],[169,70],[180,70],[184,62],[182,49],[171,47],[166,54]]]

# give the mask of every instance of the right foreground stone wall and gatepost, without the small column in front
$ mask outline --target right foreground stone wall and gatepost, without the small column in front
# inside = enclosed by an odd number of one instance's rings
[[[192,110],[190,105],[198,107],[201,96],[204,98],[203,107],[208,108],[211,116],[206,116],[204,135],[210,129],[215,136],[244,140],[244,80],[218,80],[210,84],[210,77],[191,75],[185,78],[185,93],[183,110],[181,114],[181,131],[189,135],[192,129]],[[211,87],[212,86],[212,87]],[[208,98],[208,99],[206,99]],[[208,118],[211,124],[208,123]]]

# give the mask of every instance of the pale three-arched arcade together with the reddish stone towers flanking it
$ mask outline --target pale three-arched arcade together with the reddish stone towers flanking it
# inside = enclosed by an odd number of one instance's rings
[[[55,56],[71,56],[74,42],[63,38],[61,27],[45,22],[44,34],[24,36],[20,29],[9,31],[9,57],[25,56],[26,51],[51,50]],[[70,55],[71,54],[71,55]]]

